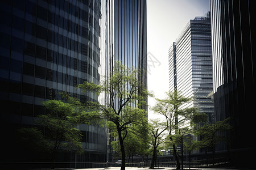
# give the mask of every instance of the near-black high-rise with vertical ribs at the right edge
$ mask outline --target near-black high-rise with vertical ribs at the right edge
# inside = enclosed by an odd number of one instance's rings
[[[255,161],[255,3],[211,0],[210,9],[214,120],[230,117],[233,126],[228,147],[218,150],[233,151],[230,160],[245,168]]]

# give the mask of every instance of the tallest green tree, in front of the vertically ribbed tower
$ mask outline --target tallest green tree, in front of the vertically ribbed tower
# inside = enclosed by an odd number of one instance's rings
[[[146,105],[147,96],[150,94],[139,80],[140,77],[140,70],[130,69],[116,61],[110,75],[105,76],[99,85],[84,82],[78,86],[84,92],[108,95],[106,105],[88,101],[84,106],[98,111],[102,118],[114,123],[122,155],[121,170],[125,170],[124,141],[130,125],[146,125],[147,122],[146,111],[140,108]]]

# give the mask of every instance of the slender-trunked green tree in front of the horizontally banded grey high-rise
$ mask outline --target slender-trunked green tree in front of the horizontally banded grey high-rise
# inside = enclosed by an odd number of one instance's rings
[[[196,108],[184,108],[180,109],[180,106],[189,103],[191,98],[184,97],[177,92],[168,91],[166,99],[156,99],[156,105],[152,108],[154,112],[162,114],[166,118],[166,126],[168,130],[168,137],[172,143],[174,149],[174,158],[177,163],[177,169],[180,169],[179,156],[176,150],[176,140],[174,135],[179,135],[180,127],[187,126],[188,121],[192,120],[197,114]]]

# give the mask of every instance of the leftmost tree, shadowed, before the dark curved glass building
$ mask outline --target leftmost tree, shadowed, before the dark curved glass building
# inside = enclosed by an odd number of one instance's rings
[[[19,133],[23,143],[28,142],[33,150],[48,151],[51,154],[52,168],[59,149],[76,150],[82,154],[81,132],[75,126],[81,122],[89,122],[92,116],[80,108],[72,107],[69,103],[60,100],[48,100],[42,103],[46,107],[46,114],[35,119],[39,128],[22,128]],[[87,121],[86,121],[87,120]],[[40,130],[44,128],[44,131]]]

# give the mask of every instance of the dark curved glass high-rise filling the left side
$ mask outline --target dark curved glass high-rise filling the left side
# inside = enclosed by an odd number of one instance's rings
[[[14,0],[1,1],[0,8],[0,120],[5,131],[1,143],[6,148],[1,162],[15,162],[24,154],[18,152],[13,134],[45,113],[42,101],[61,100],[61,91],[81,101],[98,100],[76,86],[100,80],[102,6],[97,0]],[[79,125],[79,129],[85,153],[66,153],[57,161],[105,162],[106,129],[93,125]],[[11,138],[6,136],[10,134]]]

